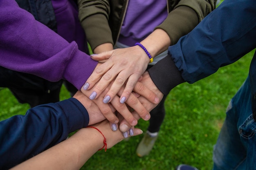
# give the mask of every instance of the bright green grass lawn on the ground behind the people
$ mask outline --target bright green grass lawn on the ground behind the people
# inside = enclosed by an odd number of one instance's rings
[[[225,119],[229,100],[248,75],[254,51],[238,62],[194,84],[184,83],[166,99],[166,117],[150,155],[140,158],[136,146],[143,135],[121,141],[107,152],[98,151],[81,170],[174,170],[180,163],[209,170],[212,150]],[[25,114],[27,104],[19,104],[7,88],[0,89],[0,120]],[[61,100],[69,97],[63,87]],[[148,121],[137,127],[146,131]]]

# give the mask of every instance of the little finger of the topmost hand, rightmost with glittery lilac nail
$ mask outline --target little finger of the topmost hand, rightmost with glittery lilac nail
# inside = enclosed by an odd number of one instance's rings
[[[140,75],[138,74],[132,74],[127,80],[126,86],[124,88],[123,93],[121,94],[120,97],[120,103],[126,102],[126,99],[130,96],[132,93],[133,88],[135,87],[135,84],[137,83]],[[114,84],[113,84],[114,85]],[[111,88],[110,88],[111,89]],[[109,93],[109,92],[108,92]]]

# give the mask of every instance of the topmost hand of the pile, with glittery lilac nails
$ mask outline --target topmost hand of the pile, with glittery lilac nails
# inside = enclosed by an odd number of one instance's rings
[[[149,58],[145,51],[139,46],[132,46],[125,49],[115,49],[92,55],[94,60],[106,60],[98,66],[88,78],[86,84],[88,90],[93,89],[94,98],[97,98],[114,81],[104,97],[104,101],[112,101],[113,97],[126,83],[123,93],[120,95],[120,102],[126,102],[139,77],[146,71]],[[99,82],[97,84],[97,82]],[[108,100],[106,100],[108,99]]]

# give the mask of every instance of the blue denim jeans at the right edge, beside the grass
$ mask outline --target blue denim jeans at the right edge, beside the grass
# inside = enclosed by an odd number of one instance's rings
[[[250,89],[248,77],[229,103],[213,149],[213,170],[256,170],[256,122]]]

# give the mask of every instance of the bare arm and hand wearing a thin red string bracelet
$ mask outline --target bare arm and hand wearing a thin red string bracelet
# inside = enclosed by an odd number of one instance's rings
[[[135,128],[134,135],[142,131]],[[98,150],[111,148],[124,139],[112,131],[107,120],[82,128],[65,141],[20,163],[11,170],[79,170]]]

